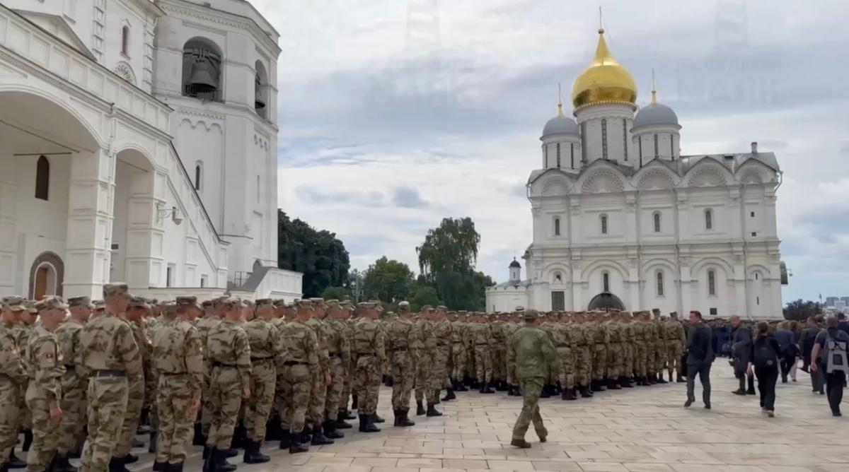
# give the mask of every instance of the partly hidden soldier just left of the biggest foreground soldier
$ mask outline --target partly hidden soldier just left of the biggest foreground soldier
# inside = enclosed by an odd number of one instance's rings
[[[86,424],[86,389],[88,379],[80,374],[74,364],[80,349],[80,333],[88,322],[94,305],[88,297],[68,300],[70,317],[56,330],[62,358],[65,359],[65,376],[62,378],[62,423],[59,426],[59,443],[56,453],[56,472],[70,472],[69,453],[79,444],[82,426]]]

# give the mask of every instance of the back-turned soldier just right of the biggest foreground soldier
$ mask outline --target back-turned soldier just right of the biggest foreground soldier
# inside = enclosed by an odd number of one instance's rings
[[[194,327],[195,297],[177,297],[162,314],[151,341],[151,363],[158,373],[156,411],[159,436],[154,470],[183,472],[186,444],[200,408],[204,366],[200,333]]]

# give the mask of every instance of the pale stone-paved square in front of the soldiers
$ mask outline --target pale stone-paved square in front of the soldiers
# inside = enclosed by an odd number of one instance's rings
[[[270,463],[245,465],[236,458],[235,464],[241,472],[846,472],[849,419],[833,418],[825,398],[812,394],[807,375],[800,371],[798,379],[779,383],[772,419],[761,414],[757,397],[730,393],[736,380],[725,359],[711,373],[711,410],[700,402],[683,408],[683,384],[605,391],[576,402],[544,399],[548,442],[539,443],[531,427],[531,449],[509,446],[519,397],[462,392],[439,405],[443,416],[419,416],[412,428],[393,428],[390,391],[384,388],[380,414],[387,422],[380,433],[349,432],[331,446],[295,455],[269,444]],[[696,388],[700,398],[698,382]],[[152,461],[144,453],[130,469],[149,470]],[[195,447],[186,470],[200,468]]]

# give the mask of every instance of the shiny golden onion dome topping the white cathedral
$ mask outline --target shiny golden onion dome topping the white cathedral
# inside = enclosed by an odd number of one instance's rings
[[[572,104],[575,108],[600,102],[637,102],[637,83],[628,69],[610,55],[604,41],[604,29],[599,29],[599,46],[593,62],[572,84]]]

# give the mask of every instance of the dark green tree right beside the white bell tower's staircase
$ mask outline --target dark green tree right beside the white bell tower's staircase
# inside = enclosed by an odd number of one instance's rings
[[[318,297],[329,286],[344,286],[351,262],[335,233],[290,219],[282,210],[277,216],[278,267],[304,275],[304,297]]]

